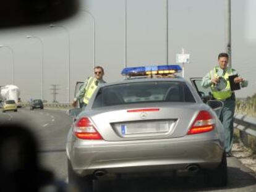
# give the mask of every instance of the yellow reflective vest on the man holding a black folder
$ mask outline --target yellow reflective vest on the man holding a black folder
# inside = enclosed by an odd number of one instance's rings
[[[211,70],[210,74],[211,74],[211,78],[219,77],[216,72],[216,67],[213,70]],[[211,85],[211,92],[213,93],[213,98],[227,99],[231,97],[233,92],[231,91],[231,87],[228,79],[229,75],[232,75],[232,69],[230,68],[227,69],[225,75],[222,77],[224,78],[224,80],[226,80],[226,88],[224,88],[223,90],[216,90],[216,85],[215,84]]]

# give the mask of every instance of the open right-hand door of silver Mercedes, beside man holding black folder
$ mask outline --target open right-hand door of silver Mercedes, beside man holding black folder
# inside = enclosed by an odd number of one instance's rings
[[[211,93],[211,88],[203,88],[201,86],[203,78],[202,77],[194,77],[190,78],[190,81],[192,83],[192,86],[194,86],[195,90],[197,90],[197,93],[199,94],[200,98],[203,102],[208,104],[208,106],[213,109],[213,111],[216,112],[218,117],[220,117],[221,110],[223,108],[223,102],[213,100],[213,94]]]

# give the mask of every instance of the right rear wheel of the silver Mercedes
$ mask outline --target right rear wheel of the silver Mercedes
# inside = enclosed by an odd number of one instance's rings
[[[226,186],[228,184],[226,152],[223,153],[221,163],[215,170],[205,170],[205,180],[208,186]]]

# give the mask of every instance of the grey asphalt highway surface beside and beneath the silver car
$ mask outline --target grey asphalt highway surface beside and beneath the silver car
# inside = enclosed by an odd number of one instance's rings
[[[0,111],[1,112],[1,111]],[[40,164],[51,170],[56,178],[67,182],[65,143],[72,118],[58,109],[18,109],[18,112],[0,113],[2,122],[25,122],[35,133],[40,144]],[[256,177],[236,157],[228,157],[228,186],[208,188],[203,176],[173,177],[170,174],[122,175],[102,178],[94,183],[95,191],[256,191]]]

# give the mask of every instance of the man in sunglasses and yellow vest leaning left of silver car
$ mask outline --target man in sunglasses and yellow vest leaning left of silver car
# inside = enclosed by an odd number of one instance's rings
[[[103,67],[96,66],[94,68],[94,77],[88,77],[85,80],[83,87],[79,90],[79,93],[77,93],[77,95],[75,96],[74,101],[72,102],[72,106],[75,107],[77,104],[77,100],[81,98],[83,98],[84,106],[87,106],[89,99],[92,97],[98,85],[106,83],[106,81],[103,80],[103,76],[104,76]]]

